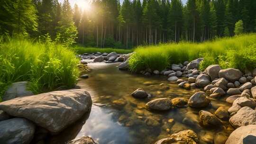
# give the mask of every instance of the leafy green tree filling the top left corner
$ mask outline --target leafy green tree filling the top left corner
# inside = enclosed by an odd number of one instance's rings
[[[37,10],[31,0],[0,0],[0,34],[34,34]]]

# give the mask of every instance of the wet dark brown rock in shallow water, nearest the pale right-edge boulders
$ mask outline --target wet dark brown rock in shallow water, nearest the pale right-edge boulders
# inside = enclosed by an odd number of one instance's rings
[[[211,114],[209,111],[201,110],[199,112],[199,123],[201,126],[211,127],[220,126],[221,122],[218,117]]]

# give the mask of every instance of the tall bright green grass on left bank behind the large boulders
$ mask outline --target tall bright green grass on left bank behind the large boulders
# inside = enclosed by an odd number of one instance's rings
[[[72,88],[79,75],[79,60],[62,45],[24,38],[0,41],[0,96],[12,82],[30,81],[35,93]]]

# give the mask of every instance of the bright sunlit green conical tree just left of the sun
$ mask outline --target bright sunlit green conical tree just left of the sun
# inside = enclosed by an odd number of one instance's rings
[[[64,45],[72,45],[77,38],[77,29],[73,22],[73,12],[68,0],[64,0],[61,19],[57,27],[57,41]]]

